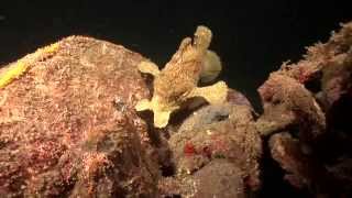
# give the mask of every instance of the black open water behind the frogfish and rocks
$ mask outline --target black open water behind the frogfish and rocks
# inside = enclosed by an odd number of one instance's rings
[[[256,108],[256,88],[270,72],[301,58],[305,46],[352,20],[348,1],[0,1],[0,65],[73,34],[107,40],[165,64],[199,24],[213,32],[222,78]],[[279,175],[265,173],[263,197],[295,197]]]

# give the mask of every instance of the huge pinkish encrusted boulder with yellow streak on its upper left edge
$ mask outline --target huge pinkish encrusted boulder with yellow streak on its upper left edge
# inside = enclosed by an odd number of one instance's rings
[[[157,166],[133,110],[148,96],[142,59],[72,36],[2,68],[0,195],[155,197]]]

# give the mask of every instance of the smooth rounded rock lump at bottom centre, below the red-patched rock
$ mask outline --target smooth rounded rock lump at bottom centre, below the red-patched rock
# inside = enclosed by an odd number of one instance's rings
[[[215,160],[194,175],[165,178],[160,183],[163,196],[244,198],[241,169],[227,160]]]

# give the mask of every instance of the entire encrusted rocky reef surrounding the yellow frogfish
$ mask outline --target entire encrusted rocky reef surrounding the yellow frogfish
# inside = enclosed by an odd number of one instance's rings
[[[155,128],[135,109],[154,91],[143,62],[69,36],[3,66],[0,197],[260,197],[264,158],[294,190],[352,196],[352,23],[273,72],[263,112],[229,88],[221,103],[183,100]]]

